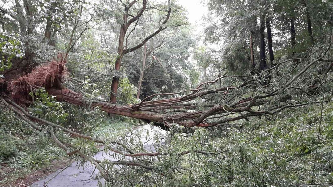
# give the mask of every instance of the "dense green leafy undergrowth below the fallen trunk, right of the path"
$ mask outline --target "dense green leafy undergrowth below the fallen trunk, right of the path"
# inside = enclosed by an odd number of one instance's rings
[[[153,159],[153,171],[114,168],[117,183],[109,183],[109,186],[329,184],[333,182],[332,120],[333,105],[329,103],[324,105],[319,141],[320,105],[292,109],[274,120],[263,118],[213,129],[200,128],[189,137],[168,136],[166,142],[161,142],[157,136],[159,152],[168,154]],[[179,156],[187,150],[189,154]],[[220,153],[205,155],[196,150]]]

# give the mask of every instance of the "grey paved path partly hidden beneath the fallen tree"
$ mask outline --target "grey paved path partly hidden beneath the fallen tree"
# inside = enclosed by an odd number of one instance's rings
[[[154,145],[153,145],[153,136],[155,133],[162,133],[165,134],[165,131],[161,130],[159,127],[151,127],[150,125],[144,125],[137,129],[136,131],[142,131],[141,134],[141,141],[144,144],[144,148],[148,151],[154,151]],[[147,136],[146,131],[148,130],[149,136]],[[112,154],[112,152],[111,152]],[[113,158],[112,156],[108,156],[105,152],[99,152],[95,155],[95,158],[97,159],[109,159],[111,161],[117,161],[117,159]],[[130,159],[130,158],[129,158]],[[55,173],[52,173],[51,175],[47,176],[43,180],[37,181],[34,184],[31,185],[31,187],[43,187],[44,182],[52,179],[47,183],[48,187],[86,187],[86,186],[97,186],[98,185],[98,179],[95,179],[95,176],[98,172],[96,169],[93,173],[95,166],[90,163],[85,163],[84,167],[80,166],[79,168],[78,162],[73,162],[69,167],[66,169],[62,168],[56,171]],[[63,170],[64,169],[64,170]],[[63,170],[63,171],[62,171]],[[61,171],[61,172],[60,172]],[[60,173],[59,173],[60,172]],[[104,181],[101,180],[102,184],[104,184]]]

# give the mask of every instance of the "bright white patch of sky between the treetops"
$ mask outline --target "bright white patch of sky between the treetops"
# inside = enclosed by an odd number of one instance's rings
[[[203,0],[178,0],[178,4],[187,9],[188,21],[195,26],[194,34],[203,33],[202,16],[208,12]]]

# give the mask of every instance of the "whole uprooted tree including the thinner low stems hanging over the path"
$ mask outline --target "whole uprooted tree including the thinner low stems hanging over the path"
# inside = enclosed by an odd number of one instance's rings
[[[323,92],[325,85],[330,84],[332,80],[333,60],[328,58],[331,44],[332,42],[329,45],[322,45],[308,57],[285,60],[260,73],[257,69],[253,69],[248,76],[223,75],[212,81],[201,83],[192,90],[153,94],[134,105],[119,105],[110,101],[88,99],[83,93],[77,93],[64,87],[62,83],[71,80],[67,75],[66,60],[59,54],[58,58],[51,63],[39,66],[27,75],[11,80],[1,79],[0,100],[5,107],[15,112],[32,128],[42,131],[44,130],[42,125],[52,127],[47,128],[46,131],[57,145],[67,151],[68,155],[78,154],[94,164],[101,175],[110,181],[112,179],[108,177],[108,172],[103,164],[138,166],[146,170],[153,170],[153,162],[143,160],[145,162],[143,164],[137,160],[96,160],[69,142],[60,140],[56,131],[61,130],[74,137],[103,143],[106,146],[118,144],[118,149],[111,146],[109,149],[124,156],[154,157],[168,153],[133,152],[131,147],[119,141],[93,138],[36,117],[25,109],[25,106],[32,103],[35,97],[34,94],[29,93],[34,93],[39,88],[45,88],[48,94],[55,96],[59,101],[85,107],[98,106],[108,113],[152,122],[172,133],[191,133],[200,127],[214,129],[215,126],[223,126],[231,121],[250,120],[250,117],[253,116],[269,117],[286,108],[319,102],[316,100],[316,95]],[[280,70],[287,70],[288,73],[280,77],[274,74]],[[228,85],[219,87],[215,83],[220,80]],[[155,99],[156,97],[164,98]],[[205,155],[217,155],[223,151],[225,150],[211,153],[194,150],[196,153]],[[180,152],[178,156],[189,153],[190,151]]]

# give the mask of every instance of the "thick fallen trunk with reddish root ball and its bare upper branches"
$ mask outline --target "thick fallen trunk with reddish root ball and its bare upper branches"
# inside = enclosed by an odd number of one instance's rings
[[[288,103],[287,100],[292,100],[293,95],[288,90],[297,90],[295,95],[305,94],[308,97],[314,97],[309,90],[301,88],[299,83],[306,81],[308,78],[303,78],[303,74],[313,65],[318,62],[326,62],[324,60],[328,49],[323,52],[323,55],[317,59],[312,60],[307,66],[305,66],[299,73],[295,74],[291,78],[289,74],[285,80],[280,79],[280,84],[270,84],[264,87],[259,86],[260,79],[265,74],[273,69],[279,68],[279,66],[285,63],[292,63],[292,60],[287,60],[277,64],[276,66],[261,72],[256,78],[254,76],[222,76],[218,77],[213,81],[204,82],[198,85],[193,90],[186,90],[178,93],[165,93],[165,94],[154,94],[145,99],[140,103],[129,105],[119,105],[110,101],[101,101],[96,99],[86,99],[82,94],[64,88],[62,82],[67,75],[67,69],[65,67],[66,61],[61,58],[61,55],[57,60],[52,61],[49,64],[34,69],[30,74],[20,77],[15,80],[8,82],[7,92],[10,93],[10,97],[15,102],[21,104],[29,104],[34,99],[34,95],[29,93],[34,90],[43,87],[50,94],[55,96],[59,101],[69,102],[80,106],[96,107],[100,106],[101,110],[114,113],[118,115],[124,115],[137,119],[142,119],[147,122],[153,122],[156,125],[165,126],[165,129],[172,126],[172,124],[178,124],[186,128],[195,126],[218,126],[226,122],[235,121],[239,119],[248,119],[251,116],[261,115],[272,115],[276,112],[281,111],[284,108],[293,107],[297,105],[304,105],[311,102],[304,103]],[[302,58],[307,62],[310,57]],[[234,82],[230,86],[213,88],[211,87],[214,83],[221,79],[246,79],[244,82],[237,86],[233,86]],[[290,80],[290,81],[289,81]],[[318,85],[306,85],[303,86],[311,87],[311,89],[318,90]],[[4,87],[4,86],[3,86]],[[252,95],[249,97],[242,97],[237,95],[241,89],[247,88],[253,89]],[[173,98],[148,100],[159,95],[177,95]],[[182,96],[178,96],[182,95]],[[198,104],[198,98],[206,98],[207,96],[218,95],[221,97],[219,100],[221,103],[208,103]],[[255,106],[265,105],[264,110],[260,110],[258,107],[253,109]],[[207,121],[209,116],[214,116],[214,119]]]

